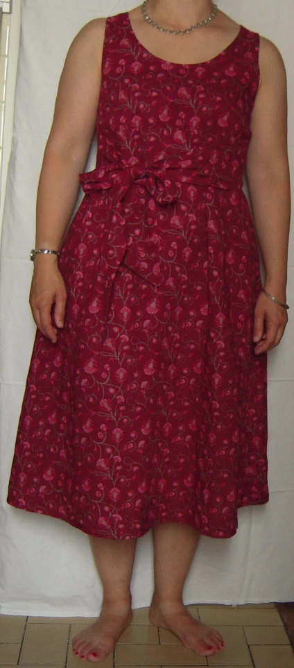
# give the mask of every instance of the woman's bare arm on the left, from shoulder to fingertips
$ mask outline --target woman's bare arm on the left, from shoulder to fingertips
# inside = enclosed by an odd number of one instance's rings
[[[44,152],[37,191],[36,248],[58,250],[69,223],[96,126],[101,87],[101,58],[105,19],[94,19],[72,42],[60,77],[55,112]],[[58,256],[38,253],[29,302],[35,323],[53,343],[54,318],[64,323],[66,288],[58,270]]]

